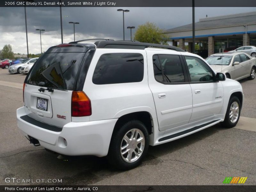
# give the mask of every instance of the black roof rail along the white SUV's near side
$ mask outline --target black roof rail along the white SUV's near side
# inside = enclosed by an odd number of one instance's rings
[[[96,41],[94,43],[97,48],[109,48],[109,49],[145,49],[148,47],[155,48],[164,48],[170,49],[179,52],[185,52],[183,49],[179,47],[175,47],[172,45],[161,45],[161,44],[152,44],[152,43],[140,43],[140,42],[132,42],[132,41]]]

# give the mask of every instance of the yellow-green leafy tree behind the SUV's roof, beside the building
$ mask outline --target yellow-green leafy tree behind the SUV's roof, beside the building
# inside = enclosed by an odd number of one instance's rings
[[[167,44],[168,36],[163,34],[164,30],[160,29],[154,23],[147,22],[139,25],[134,34],[134,40],[143,43]]]

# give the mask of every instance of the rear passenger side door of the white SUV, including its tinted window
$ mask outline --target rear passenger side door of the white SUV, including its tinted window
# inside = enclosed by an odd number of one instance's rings
[[[148,84],[156,106],[159,131],[188,124],[192,93],[179,52],[147,50]]]

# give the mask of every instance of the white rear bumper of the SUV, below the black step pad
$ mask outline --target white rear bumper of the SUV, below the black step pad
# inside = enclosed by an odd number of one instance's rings
[[[54,152],[69,155],[106,156],[117,119],[88,122],[70,122],[61,132],[53,132],[20,117],[26,115],[25,107],[17,109],[18,127],[26,137],[37,139],[41,146]],[[67,141],[65,145],[64,139]]]

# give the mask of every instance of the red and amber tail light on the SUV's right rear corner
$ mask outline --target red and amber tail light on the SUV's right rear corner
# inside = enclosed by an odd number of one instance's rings
[[[73,117],[92,115],[91,100],[83,91],[72,92],[71,112]]]

